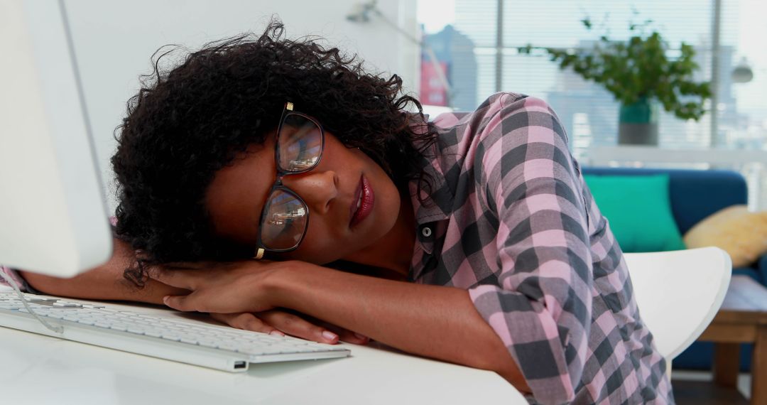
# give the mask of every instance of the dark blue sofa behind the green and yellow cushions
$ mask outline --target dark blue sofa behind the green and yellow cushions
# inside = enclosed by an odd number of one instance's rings
[[[733,205],[748,201],[746,179],[739,173],[726,170],[673,170],[584,167],[584,174],[601,176],[649,176],[668,174],[671,211],[676,226],[684,235],[696,223],[707,216]],[[733,275],[748,275],[762,285],[767,285],[767,255],[762,256],[754,267],[734,268]],[[742,345],[741,369],[749,370],[751,345]],[[713,344],[696,342],[673,361],[676,369],[710,370]]]

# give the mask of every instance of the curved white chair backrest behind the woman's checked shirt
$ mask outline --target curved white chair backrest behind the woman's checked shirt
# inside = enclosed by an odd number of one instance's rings
[[[722,249],[626,253],[639,313],[672,360],[711,323],[724,301],[732,261]]]

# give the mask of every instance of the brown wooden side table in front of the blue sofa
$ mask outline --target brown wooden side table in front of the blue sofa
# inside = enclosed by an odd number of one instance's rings
[[[751,403],[767,404],[767,288],[734,275],[722,308],[699,341],[714,342],[714,383],[737,390],[740,344],[754,344]]]

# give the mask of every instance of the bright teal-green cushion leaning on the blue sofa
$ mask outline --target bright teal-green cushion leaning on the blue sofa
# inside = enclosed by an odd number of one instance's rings
[[[685,249],[671,213],[667,174],[584,179],[624,252]]]

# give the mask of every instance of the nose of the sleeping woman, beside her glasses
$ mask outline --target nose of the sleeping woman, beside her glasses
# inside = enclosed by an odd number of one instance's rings
[[[285,176],[282,183],[298,193],[312,213],[327,213],[338,196],[338,174],[332,170]]]

